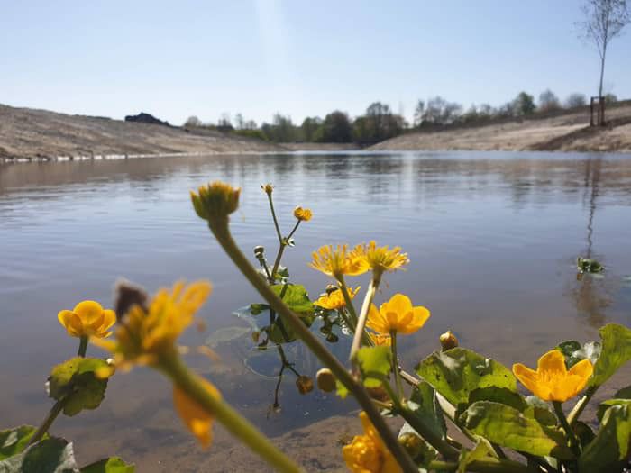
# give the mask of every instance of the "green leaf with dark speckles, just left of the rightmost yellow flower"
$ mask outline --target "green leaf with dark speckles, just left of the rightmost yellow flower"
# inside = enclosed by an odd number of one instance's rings
[[[504,387],[517,393],[517,381],[508,368],[460,347],[434,351],[420,362],[416,373],[456,406],[467,404],[471,391],[481,387]]]

